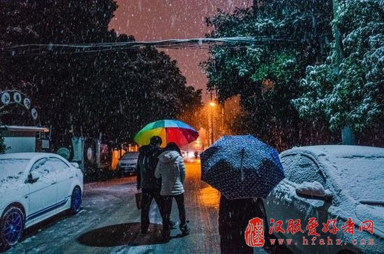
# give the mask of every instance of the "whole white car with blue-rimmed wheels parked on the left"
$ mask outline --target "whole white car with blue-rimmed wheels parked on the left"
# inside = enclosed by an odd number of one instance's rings
[[[54,214],[80,211],[83,176],[77,163],[57,154],[0,155],[0,250]]]

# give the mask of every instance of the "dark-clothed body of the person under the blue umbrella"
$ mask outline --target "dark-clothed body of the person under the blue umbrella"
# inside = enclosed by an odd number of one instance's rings
[[[246,245],[244,232],[249,220],[258,216],[258,204],[253,198],[228,200],[224,195],[219,204],[219,234],[222,254],[253,253]]]

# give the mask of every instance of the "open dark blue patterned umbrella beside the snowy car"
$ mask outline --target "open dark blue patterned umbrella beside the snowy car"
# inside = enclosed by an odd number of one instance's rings
[[[253,135],[221,137],[200,158],[202,181],[230,200],[266,197],[284,178],[277,151]]]

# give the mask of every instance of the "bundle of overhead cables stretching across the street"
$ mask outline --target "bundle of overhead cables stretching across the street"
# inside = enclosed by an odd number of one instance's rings
[[[224,37],[224,38],[190,38],[152,41],[128,41],[119,43],[79,43],[79,44],[24,44],[0,45],[0,57],[21,57],[40,54],[73,54],[90,53],[109,50],[135,50],[142,47],[156,47],[173,50],[206,49],[212,45],[223,47],[240,47],[242,45],[271,45],[294,43],[288,37],[258,36],[258,37]]]

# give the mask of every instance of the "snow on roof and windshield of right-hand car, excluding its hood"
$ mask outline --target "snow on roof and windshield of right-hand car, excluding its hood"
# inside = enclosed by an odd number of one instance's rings
[[[281,154],[294,151],[304,151],[316,158],[326,174],[353,200],[384,202],[383,148],[323,145],[295,147]]]

